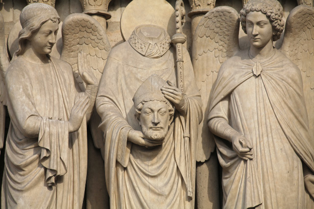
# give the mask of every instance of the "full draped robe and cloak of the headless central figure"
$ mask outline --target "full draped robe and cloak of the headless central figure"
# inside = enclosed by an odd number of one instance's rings
[[[152,151],[151,155],[153,155],[153,157],[147,157],[150,150],[145,150],[145,147],[128,142],[127,134],[131,129],[141,131],[134,117],[135,108],[132,101],[132,97],[138,87],[153,74],[157,74],[164,80],[170,80],[172,83],[176,84],[174,49],[170,48],[159,58],[149,58],[136,52],[129,42],[125,42],[113,48],[109,53],[104,74],[99,84],[96,107],[102,118],[100,128],[105,133],[105,178],[110,196],[111,209],[123,209],[128,207],[182,208],[183,205],[184,208],[194,208],[195,148],[197,126],[202,120],[202,103],[200,93],[194,80],[192,64],[188,52],[185,49],[183,55],[185,94],[188,103],[186,130],[189,133],[189,139],[183,138],[184,128],[179,119],[179,113],[177,113],[174,122],[169,128],[167,142],[162,145],[162,148],[154,148],[160,149],[160,152],[169,150],[170,153],[162,155],[162,157],[171,159],[166,160],[165,158],[158,158],[158,155],[161,154],[157,150]],[[186,148],[184,147],[184,140],[189,140],[188,149],[190,151],[191,162],[189,178],[193,190],[192,200],[188,199],[186,192],[185,183],[188,178],[188,172],[186,168],[187,159],[184,157],[184,150]],[[141,161],[140,157],[143,157],[143,161]],[[144,159],[148,161],[144,162]],[[166,178],[162,178],[160,174],[162,174],[163,171],[160,166],[164,165],[160,164],[158,160],[169,162],[167,169],[169,169],[171,175],[168,173]],[[144,200],[144,198],[147,197],[145,196],[146,194],[142,199],[135,197],[133,199],[134,201],[129,198],[131,194],[144,194],[144,192],[147,191],[146,188],[150,186],[150,180],[145,181],[145,177],[138,178],[140,172],[138,172],[137,169],[140,168],[143,168],[141,174],[147,174],[148,176],[155,175],[155,179],[152,180],[152,186],[150,187],[152,188],[152,192],[149,193],[152,201],[150,201],[149,198]],[[153,170],[152,173],[148,173],[150,169]],[[175,184],[171,177],[177,181]],[[137,180],[138,182],[134,182]],[[160,185],[167,186],[167,188],[156,186],[158,181],[163,181],[160,182]],[[168,185],[166,182],[171,183]],[[182,185],[180,182],[182,182]],[[146,188],[141,190],[144,185],[146,185]],[[171,191],[171,189],[169,189],[170,185],[175,185],[177,189],[182,188],[182,191]],[[127,192],[127,189],[131,191]],[[171,193],[163,193],[164,191]],[[161,201],[171,203],[169,199],[175,196],[173,194],[183,195],[182,200],[179,201],[180,205],[163,205]],[[159,200],[160,205],[153,204],[154,201],[157,200]],[[135,205],[136,203],[140,204],[140,206]]]

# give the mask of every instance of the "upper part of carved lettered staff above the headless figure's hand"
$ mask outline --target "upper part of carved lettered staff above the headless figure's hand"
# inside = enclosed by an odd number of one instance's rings
[[[186,37],[182,34],[182,26],[185,22],[185,9],[182,0],[176,1],[176,34],[171,38],[173,44],[176,45],[176,58],[177,58],[177,86],[184,94],[184,74],[183,74],[183,44]]]

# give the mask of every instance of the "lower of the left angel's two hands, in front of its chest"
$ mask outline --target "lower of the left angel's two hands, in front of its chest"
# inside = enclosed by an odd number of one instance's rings
[[[72,107],[69,118],[69,132],[78,131],[80,128],[84,115],[89,107],[89,97],[86,94],[80,94],[76,103]]]

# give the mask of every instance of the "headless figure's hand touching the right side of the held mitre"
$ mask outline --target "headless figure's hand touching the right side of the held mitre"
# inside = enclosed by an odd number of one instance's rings
[[[186,115],[187,105],[184,100],[184,95],[182,95],[179,88],[177,88],[169,80],[167,81],[169,86],[162,86],[161,92],[164,94],[165,98],[172,102],[176,109],[183,115]]]

